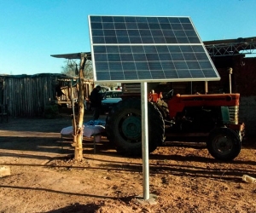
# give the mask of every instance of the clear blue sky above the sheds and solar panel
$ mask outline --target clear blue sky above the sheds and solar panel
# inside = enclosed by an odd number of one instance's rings
[[[202,41],[256,37],[255,0],[0,0],[0,74],[60,73],[90,51],[89,14],[190,16]]]

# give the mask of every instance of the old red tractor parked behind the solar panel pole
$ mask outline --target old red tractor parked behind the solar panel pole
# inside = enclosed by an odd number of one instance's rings
[[[118,153],[142,155],[139,84],[123,85],[123,100],[106,119],[108,140]],[[241,151],[244,124],[238,122],[239,94],[173,95],[173,89],[148,95],[148,149],[153,152],[166,136],[207,135],[212,157],[232,160]]]

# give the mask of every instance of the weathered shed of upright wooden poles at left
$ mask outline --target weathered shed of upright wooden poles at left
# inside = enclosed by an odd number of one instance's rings
[[[72,97],[77,99],[77,80],[60,73],[0,75],[0,104],[8,106],[10,116],[42,116],[50,104],[67,105]],[[84,80],[84,84],[84,94],[88,95],[93,82]]]

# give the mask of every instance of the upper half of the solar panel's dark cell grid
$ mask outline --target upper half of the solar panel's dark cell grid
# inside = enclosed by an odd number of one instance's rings
[[[187,17],[91,16],[90,29],[93,43],[200,42]]]

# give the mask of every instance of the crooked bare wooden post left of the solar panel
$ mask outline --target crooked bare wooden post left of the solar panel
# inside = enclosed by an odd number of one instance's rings
[[[84,64],[85,57],[81,55],[79,68],[79,115],[76,135],[74,158],[81,161],[83,159],[83,123],[84,123]]]

